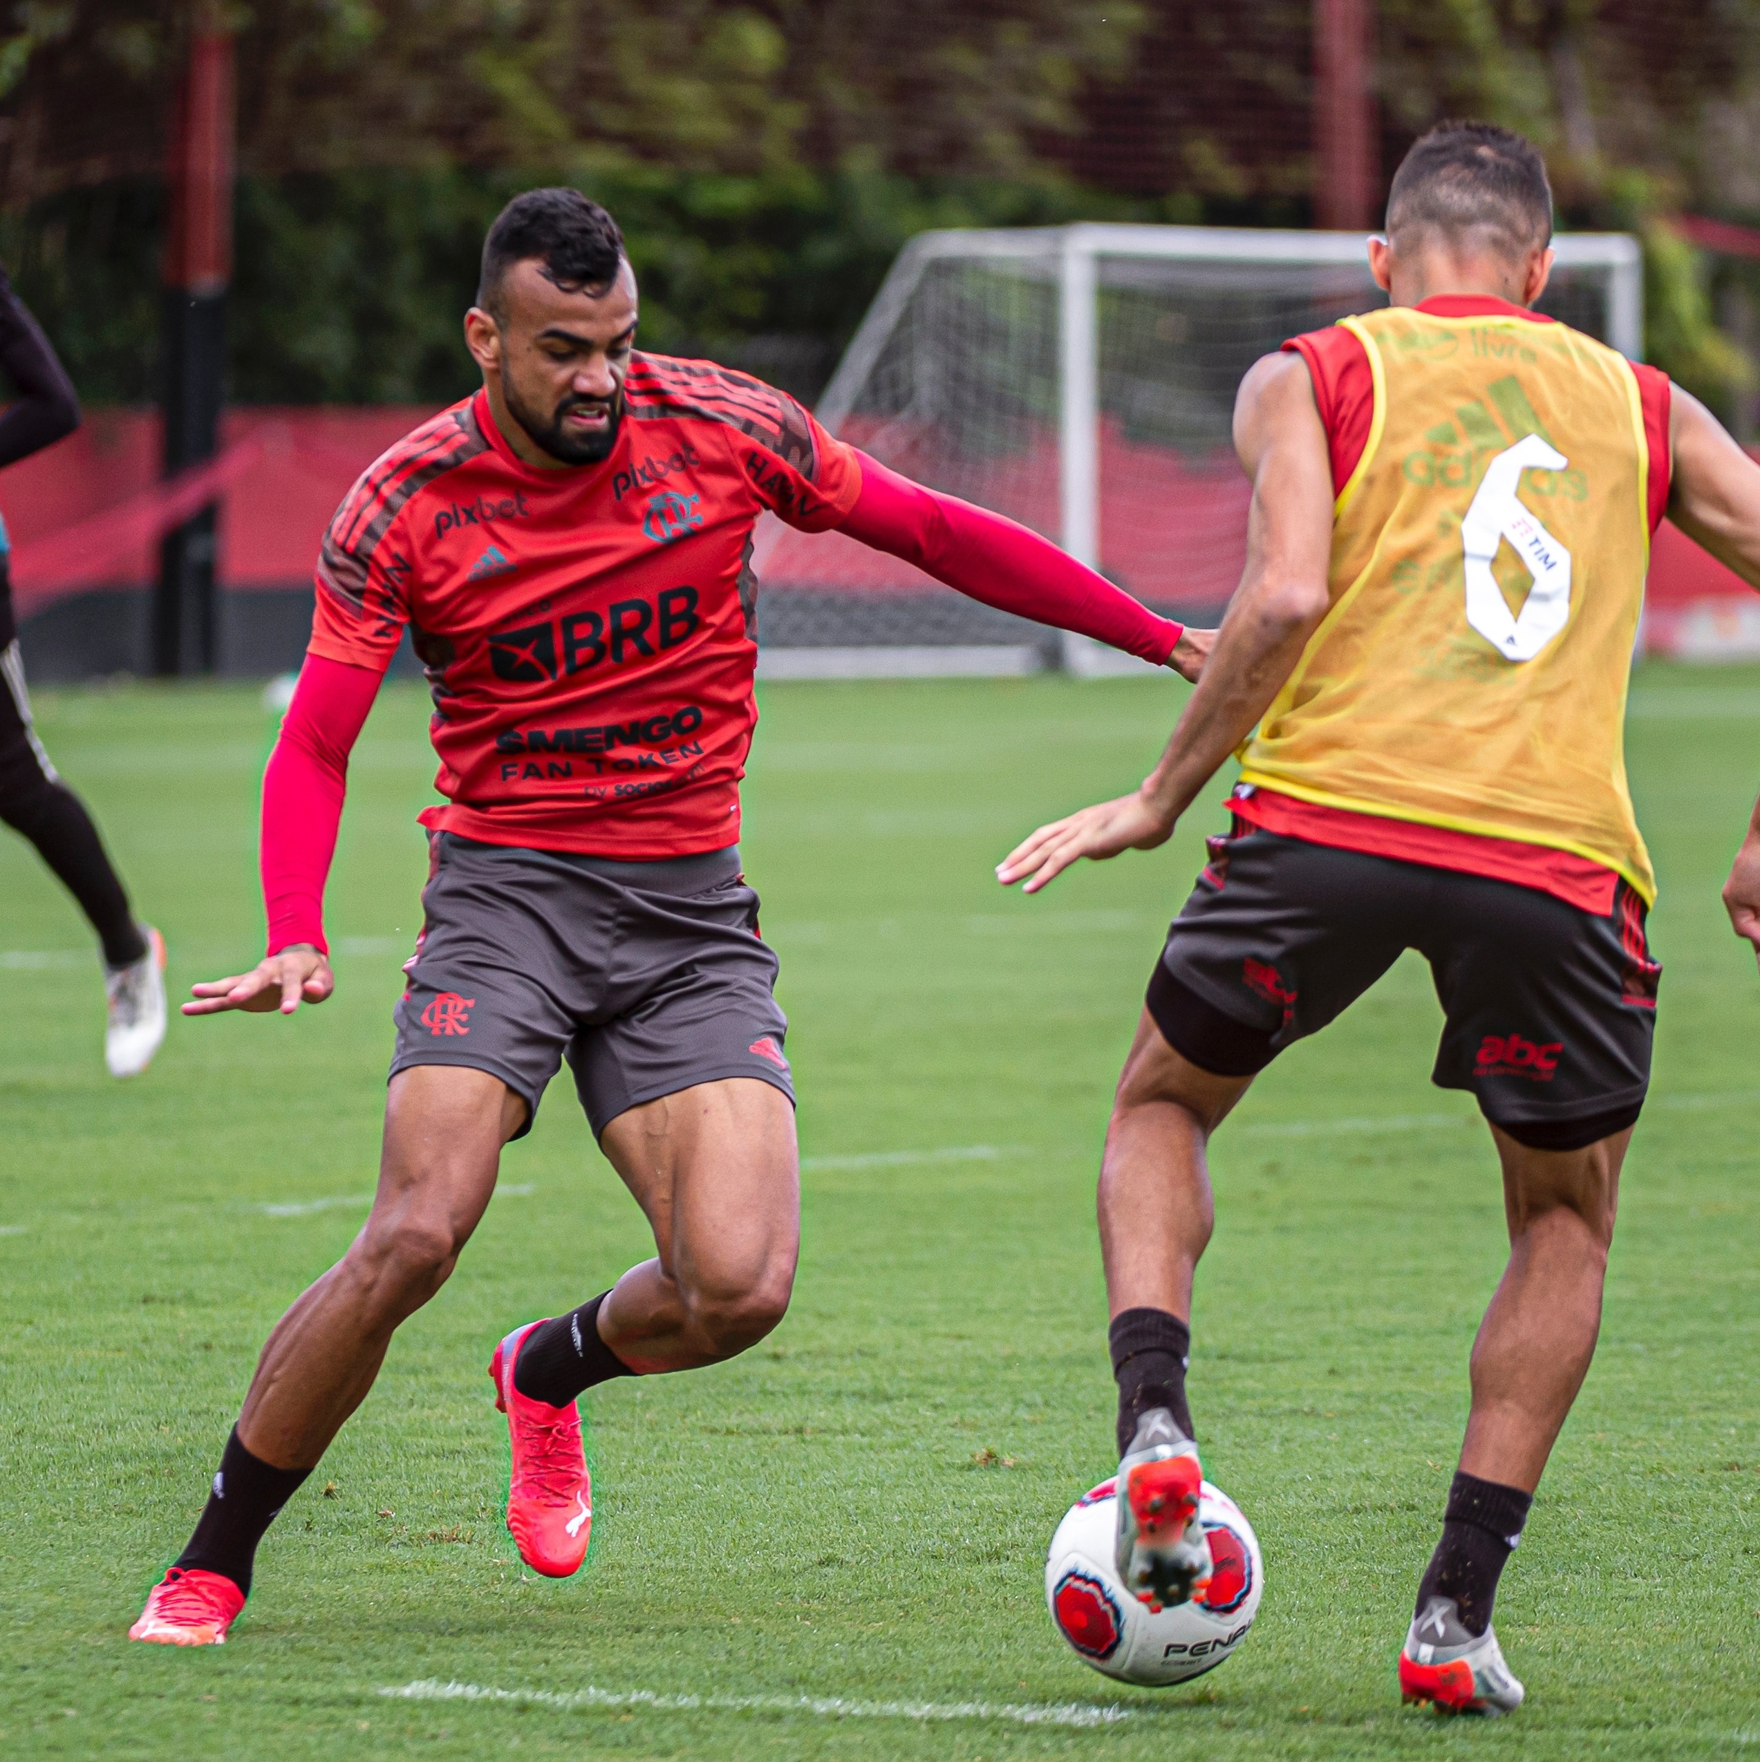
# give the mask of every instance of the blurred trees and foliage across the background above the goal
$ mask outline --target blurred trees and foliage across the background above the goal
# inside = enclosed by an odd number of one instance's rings
[[[152,395],[166,106],[189,0],[9,9],[0,243],[86,395]],[[624,220],[647,340],[809,393],[925,226],[1305,224],[1311,0],[278,0],[238,5],[233,395],[463,389],[514,189]],[[1760,0],[1379,0],[1383,166],[1443,115],[1531,134],[1571,226],[1645,238],[1649,352],[1728,409],[1760,218]],[[1719,305],[1721,303],[1721,305]],[[1734,319],[1732,319],[1734,324]],[[1739,326],[1737,326],[1739,328]]]

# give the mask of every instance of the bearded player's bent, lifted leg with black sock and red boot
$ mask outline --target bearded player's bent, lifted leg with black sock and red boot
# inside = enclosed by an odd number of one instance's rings
[[[490,1364],[513,1445],[507,1528],[557,1579],[580,1570],[592,1535],[578,1397],[745,1351],[782,1320],[800,1253],[795,1108],[772,1084],[680,1089],[625,1108],[599,1142],[659,1253],[578,1309],[514,1329]]]

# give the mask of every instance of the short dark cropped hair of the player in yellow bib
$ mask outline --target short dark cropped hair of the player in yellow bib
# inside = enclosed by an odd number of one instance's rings
[[[1489,122],[1439,122],[1394,173],[1387,231],[1503,234],[1515,255],[1552,238],[1552,185],[1533,141]]]

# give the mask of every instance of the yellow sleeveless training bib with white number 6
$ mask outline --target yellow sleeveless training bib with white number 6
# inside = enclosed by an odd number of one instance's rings
[[[1575,851],[1654,900],[1624,758],[1649,567],[1637,375],[1564,324],[1342,322],[1374,419],[1334,509],[1332,610],[1242,782]]]

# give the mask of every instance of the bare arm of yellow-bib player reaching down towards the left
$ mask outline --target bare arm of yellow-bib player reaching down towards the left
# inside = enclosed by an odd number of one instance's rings
[[[1332,462],[1307,366],[1261,359],[1235,400],[1235,451],[1253,481],[1247,567],[1198,689],[1140,789],[1039,826],[997,867],[1038,893],[1083,856],[1152,849],[1253,731],[1330,604]]]

